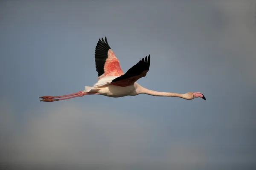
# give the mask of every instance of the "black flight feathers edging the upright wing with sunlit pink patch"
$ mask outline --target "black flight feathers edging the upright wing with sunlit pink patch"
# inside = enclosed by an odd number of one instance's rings
[[[111,49],[108,45],[107,37],[105,37],[105,41],[100,40],[98,41],[95,49],[95,65],[96,71],[98,72],[98,76],[100,77],[104,74],[104,65],[106,59],[108,58],[108,50]]]

